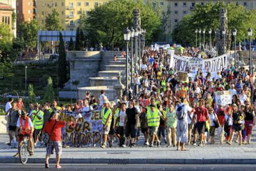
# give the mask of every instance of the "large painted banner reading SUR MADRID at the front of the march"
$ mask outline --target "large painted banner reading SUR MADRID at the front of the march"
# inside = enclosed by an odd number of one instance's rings
[[[103,125],[101,123],[101,110],[92,112],[81,112],[82,118],[79,118],[75,127],[62,128],[62,142],[69,146],[94,146],[100,144]],[[77,117],[75,112],[63,112],[60,120],[73,121]]]

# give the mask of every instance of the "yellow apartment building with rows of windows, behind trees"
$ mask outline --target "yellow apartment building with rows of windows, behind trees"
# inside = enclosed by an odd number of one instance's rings
[[[79,25],[80,15],[84,11],[94,9],[95,6],[108,2],[108,0],[35,0],[36,1],[36,19],[41,25],[45,25],[45,19],[51,14],[53,9],[59,12],[59,19],[62,29],[73,31]]]

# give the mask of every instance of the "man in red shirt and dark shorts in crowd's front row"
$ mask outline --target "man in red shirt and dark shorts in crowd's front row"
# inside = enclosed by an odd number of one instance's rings
[[[203,99],[199,100],[199,106],[195,108],[195,115],[197,115],[197,131],[200,135],[200,144],[198,146],[203,146],[204,143],[204,133],[205,133],[205,122],[208,120],[208,110],[205,108],[205,102]],[[194,123],[195,115],[193,116],[192,123]]]

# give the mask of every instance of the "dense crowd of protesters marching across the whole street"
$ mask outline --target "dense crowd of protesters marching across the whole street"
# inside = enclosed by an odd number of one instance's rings
[[[111,148],[114,138],[119,140],[120,147],[134,147],[141,138],[140,133],[144,136],[145,146],[165,143],[168,148],[176,147],[182,151],[187,150],[186,144],[205,146],[216,143],[216,138],[220,139],[220,144],[236,142],[241,146],[251,143],[255,126],[255,78],[244,67],[235,69],[230,65],[218,72],[216,78],[211,78],[211,73],[204,77],[198,70],[194,79],[189,77],[182,81],[177,78],[177,70],[169,67],[166,51],[145,48],[133,82],[135,93],[130,89],[128,94],[124,92],[115,101],[109,101],[102,90],[100,97],[87,92],[83,100],[66,106],[58,106],[57,101],[45,102],[41,106],[29,104],[26,112],[22,99],[14,102],[10,98],[6,104],[8,144],[12,144],[14,135],[19,142],[28,135],[32,149],[30,155],[33,155],[34,146],[45,145],[42,137],[48,133],[48,168],[53,149],[56,156],[61,155],[61,128],[74,127],[77,122],[77,119],[74,122],[59,121],[59,113],[89,112],[98,106],[102,110],[103,123],[101,148],[108,145]],[[232,103],[217,105],[216,91],[229,91]],[[19,152],[15,156],[19,156]],[[59,158],[56,167],[61,167]]]

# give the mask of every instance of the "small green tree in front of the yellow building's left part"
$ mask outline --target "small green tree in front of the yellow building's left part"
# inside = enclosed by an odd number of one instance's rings
[[[53,9],[53,12],[46,16],[45,27],[47,30],[62,30],[61,22],[59,21],[59,13],[56,9]]]

